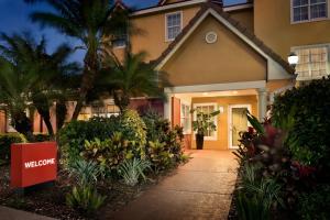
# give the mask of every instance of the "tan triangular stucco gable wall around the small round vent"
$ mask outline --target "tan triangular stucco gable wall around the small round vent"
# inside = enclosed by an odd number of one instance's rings
[[[215,44],[206,33],[218,34]],[[266,61],[209,15],[163,67],[173,86],[254,81],[266,78]]]

